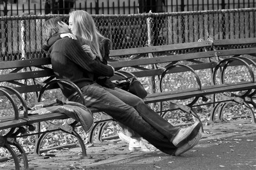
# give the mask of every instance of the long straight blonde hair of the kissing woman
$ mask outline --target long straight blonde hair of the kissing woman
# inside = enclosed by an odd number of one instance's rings
[[[102,48],[102,42],[105,38],[96,29],[95,22],[89,13],[83,10],[77,10],[70,12],[70,17],[73,19],[73,26],[76,28],[78,35],[77,38],[80,40],[82,45],[86,44],[91,47],[92,52],[99,56],[100,60],[103,60],[103,56],[100,53]]]

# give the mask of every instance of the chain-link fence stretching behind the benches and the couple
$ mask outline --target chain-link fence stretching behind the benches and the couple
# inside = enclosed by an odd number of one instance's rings
[[[92,15],[111,49],[255,37],[256,8],[136,15]],[[58,15],[0,17],[1,60],[41,58],[42,25]],[[68,15],[63,15],[68,21]]]

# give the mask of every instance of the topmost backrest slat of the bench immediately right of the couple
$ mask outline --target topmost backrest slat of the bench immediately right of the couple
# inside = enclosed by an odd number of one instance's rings
[[[154,53],[154,52],[193,49],[193,48],[199,48],[199,47],[207,47],[207,46],[211,46],[211,45],[212,45],[212,42],[207,40],[204,42],[193,42],[193,43],[171,44],[171,45],[149,46],[149,47],[137,47],[137,48],[132,48],[132,49],[122,49],[122,50],[111,50],[110,57],[118,57],[118,56],[125,56],[125,55],[138,55],[138,54],[142,54],[142,53]]]

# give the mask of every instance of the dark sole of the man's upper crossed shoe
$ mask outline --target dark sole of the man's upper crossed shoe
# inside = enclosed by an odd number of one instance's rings
[[[194,123],[191,126],[190,131],[188,131],[187,134],[185,134],[183,138],[180,138],[179,140],[173,140],[172,141],[173,145],[176,147],[180,147],[180,146],[184,145],[187,141],[196,137],[200,128],[201,128],[201,124],[199,121],[197,121],[196,123]]]

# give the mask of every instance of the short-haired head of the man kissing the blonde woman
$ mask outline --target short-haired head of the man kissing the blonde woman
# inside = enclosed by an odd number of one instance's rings
[[[62,21],[61,17],[53,17],[45,21],[43,25],[44,39],[50,38],[55,33],[68,33],[70,32],[69,26]]]

